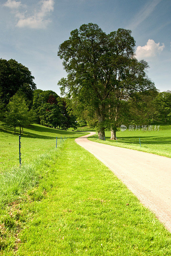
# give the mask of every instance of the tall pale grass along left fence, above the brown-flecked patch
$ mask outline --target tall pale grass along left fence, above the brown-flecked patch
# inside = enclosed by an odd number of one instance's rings
[[[63,144],[58,145],[57,150]],[[38,185],[39,180],[46,175],[50,159],[56,154],[56,149],[35,158],[31,164],[12,167],[0,173],[0,205],[3,208],[9,202],[16,200],[26,190]]]

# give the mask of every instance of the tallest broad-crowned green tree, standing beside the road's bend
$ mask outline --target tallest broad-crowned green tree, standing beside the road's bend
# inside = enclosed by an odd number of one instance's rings
[[[58,56],[68,73],[67,79],[58,83],[61,92],[77,102],[76,107],[82,105],[95,113],[100,137],[105,136],[113,94],[123,100],[154,87],[145,74],[148,64],[134,58],[134,46],[130,30],[119,28],[107,35],[92,23],[71,31],[59,46]]]

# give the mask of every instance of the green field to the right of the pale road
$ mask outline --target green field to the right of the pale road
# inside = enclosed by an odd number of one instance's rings
[[[97,132],[96,132],[97,135]],[[171,157],[171,125],[160,125],[159,131],[124,131],[116,132],[116,140],[110,140],[110,132],[105,132],[105,141],[96,137],[89,140],[116,147],[130,148],[138,151]],[[139,138],[141,147],[139,144]]]

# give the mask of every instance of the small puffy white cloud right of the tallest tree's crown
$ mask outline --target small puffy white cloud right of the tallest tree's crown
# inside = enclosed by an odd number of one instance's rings
[[[137,59],[145,59],[154,57],[160,52],[163,51],[165,45],[160,43],[155,43],[154,40],[148,39],[147,43],[144,46],[138,46],[136,49],[136,58]]]

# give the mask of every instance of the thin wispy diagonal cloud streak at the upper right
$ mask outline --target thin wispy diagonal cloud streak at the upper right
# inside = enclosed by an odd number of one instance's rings
[[[137,28],[139,24],[141,24],[148,16],[150,16],[156,5],[160,2],[161,0],[152,0],[150,3],[148,2],[145,4],[145,6],[135,15],[128,28]]]

